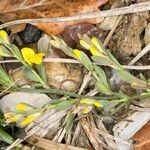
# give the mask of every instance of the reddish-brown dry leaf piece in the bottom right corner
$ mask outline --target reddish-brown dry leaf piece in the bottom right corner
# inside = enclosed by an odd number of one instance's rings
[[[147,123],[139,130],[132,138],[135,144],[134,150],[149,150],[150,149],[150,123]]]

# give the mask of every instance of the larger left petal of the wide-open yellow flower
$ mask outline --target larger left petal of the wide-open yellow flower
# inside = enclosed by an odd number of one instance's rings
[[[31,48],[22,48],[22,49],[21,49],[21,53],[22,53],[22,56],[23,56],[24,60],[25,60],[29,65],[31,65],[32,62],[30,61],[30,59],[35,56],[34,50],[31,49]]]

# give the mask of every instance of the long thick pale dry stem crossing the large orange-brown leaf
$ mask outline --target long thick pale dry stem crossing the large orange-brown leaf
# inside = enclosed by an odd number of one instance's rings
[[[96,18],[123,15],[123,14],[135,13],[135,12],[142,12],[147,10],[150,10],[150,2],[143,2],[143,3],[133,4],[127,7],[115,8],[115,9],[110,9],[101,12],[93,12],[93,13],[69,16],[69,17],[15,20],[0,25],[0,29],[12,25],[22,24],[22,23],[67,22],[67,21],[87,20],[87,19],[96,19]]]

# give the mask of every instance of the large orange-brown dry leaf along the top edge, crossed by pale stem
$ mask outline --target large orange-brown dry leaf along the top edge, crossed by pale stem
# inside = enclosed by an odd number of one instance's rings
[[[98,7],[108,0],[1,0],[0,21],[18,19],[64,17],[99,11]],[[98,23],[100,19],[86,20]],[[49,35],[59,34],[66,26],[80,21],[61,23],[34,23]],[[24,29],[24,25],[14,26],[13,32]]]

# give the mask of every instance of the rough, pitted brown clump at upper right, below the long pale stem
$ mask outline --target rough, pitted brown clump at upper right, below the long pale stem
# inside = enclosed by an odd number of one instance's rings
[[[141,33],[147,25],[148,12],[136,13],[130,16],[125,16],[121,26],[116,30],[110,42],[111,49],[121,51],[121,56],[137,55],[141,51]],[[114,46],[113,46],[114,45]]]

